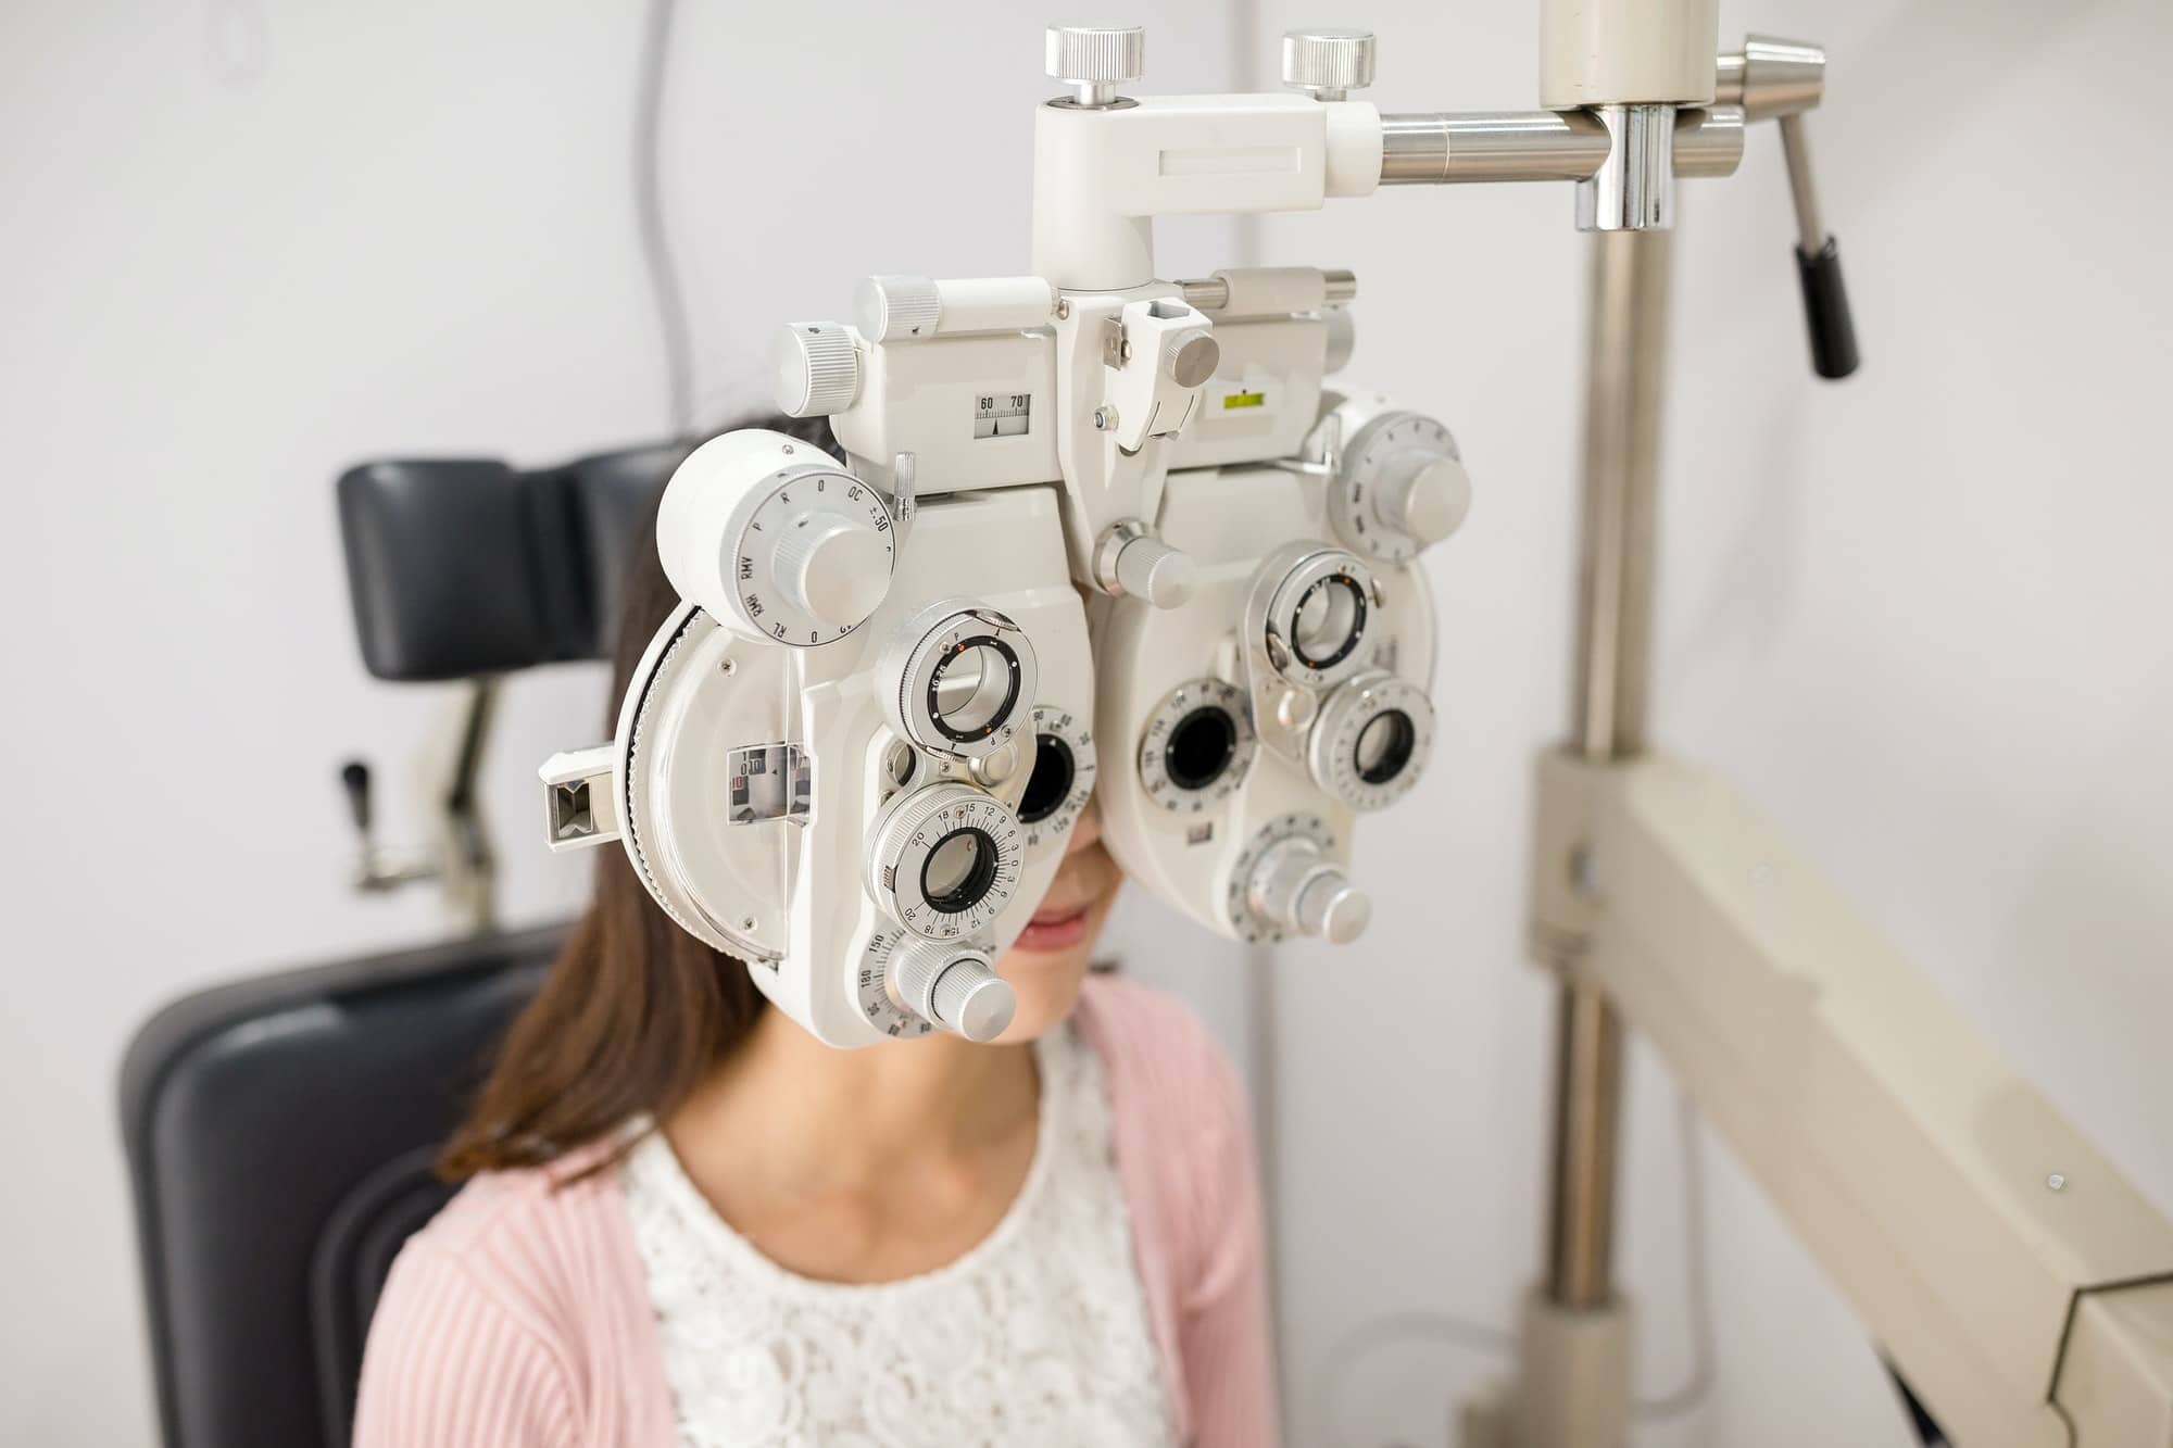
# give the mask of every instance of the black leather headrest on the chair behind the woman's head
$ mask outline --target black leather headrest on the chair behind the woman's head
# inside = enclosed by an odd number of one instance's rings
[[[663,444],[537,472],[348,470],[339,533],[363,663],[378,678],[439,681],[608,659],[626,563],[684,454]]]

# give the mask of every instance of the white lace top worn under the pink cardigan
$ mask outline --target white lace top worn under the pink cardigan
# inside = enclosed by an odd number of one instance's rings
[[[619,1168],[682,1448],[1171,1444],[1095,1052],[1037,1044],[1034,1161],[995,1231],[897,1283],[780,1268],[663,1133]]]

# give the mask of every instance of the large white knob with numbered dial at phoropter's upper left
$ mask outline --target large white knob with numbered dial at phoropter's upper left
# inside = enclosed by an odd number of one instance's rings
[[[776,644],[834,644],[882,604],[897,539],[882,494],[813,444],[748,428],[665,487],[656,552],[682,598]]]

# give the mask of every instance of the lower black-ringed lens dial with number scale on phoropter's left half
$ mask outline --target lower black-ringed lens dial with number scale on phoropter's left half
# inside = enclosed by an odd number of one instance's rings
[[[1019,887],[1026,833],[984,789],[945,781],[902,794],[876,815],[869,894],[924,939],[984,931]]]

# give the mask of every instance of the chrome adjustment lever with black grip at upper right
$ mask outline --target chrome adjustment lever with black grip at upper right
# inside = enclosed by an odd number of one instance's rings
[[[1788,161],[1788,196],[1795,200],[1795,270],[1804,285],[1804,324],[1810,328],[1810,365],[1823,378],[1856,372],[1856,320],[1849,291],[1841,283],[1841,244],[1819,217],[1819,194],[1810,185],[1810,146],[1804,113],[1825,93],[1825,50],[1806,41],[1747,35],[1743,50],[1719,59],[1714,100],[1741,104],[1745,120],[1780,122],[1780,148]]]

